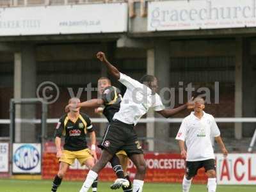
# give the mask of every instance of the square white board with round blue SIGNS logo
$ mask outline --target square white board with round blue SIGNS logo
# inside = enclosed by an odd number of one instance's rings
[[[12,172],[41,173],[41,144],[13,143]]]

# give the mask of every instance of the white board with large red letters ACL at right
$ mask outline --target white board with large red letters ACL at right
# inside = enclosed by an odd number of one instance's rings
[[[216,155],[218,184],[256,184],[256,154]]]

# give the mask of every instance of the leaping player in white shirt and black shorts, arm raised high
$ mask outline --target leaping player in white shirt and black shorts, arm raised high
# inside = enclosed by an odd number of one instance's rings
[[[127,88],[123,100],[120,104],[120,110],[115,113],[113,120],[103,137],[100,145],[102,145],[102,155],[99,161],[89,171],[83,187],[80,192],[87,192],[98,177],[98,173],[108,161],[119,150],[124,150],[127,156],[135,164],[137,172],[133,181],[133,192],[141,192],[143,188],[147,165],[138,141],[138,136],[134,131],[134,126],[145,115],[149,108],[154,108],[157,113],[168,118],[180,111],[186,109],[191,102],[175,109],[164,109],[164,105],[157,92],[157,79],[154,76],[143,76],[141,83],[119,72],[119,70],[111,65],[106,59],[103,52],[97,53],[97,58],[102,61],[108,68],[109,73],[118,79],[120,83]],[[125,180],[116,179],[113,185],[125,186]],[[112,185],[112,186],[113,186]]]

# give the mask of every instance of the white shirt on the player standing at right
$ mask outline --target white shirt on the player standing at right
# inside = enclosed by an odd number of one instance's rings
[[[186,161],[204,161],[215,159],[211,138],[220,136],[220,129],[214,117],[204,112],[202,118],[198,118],[191,112],[182,120],[176,140],[186,142]]]

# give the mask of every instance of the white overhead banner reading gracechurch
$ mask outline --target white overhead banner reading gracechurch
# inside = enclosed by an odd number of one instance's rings
[[[157,1],[148,4],[148,31],[256,26],[256,0]]]

